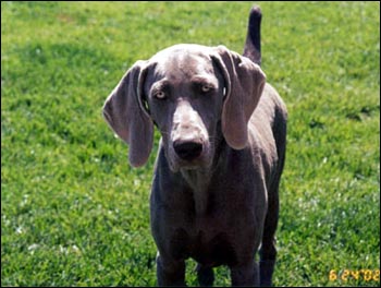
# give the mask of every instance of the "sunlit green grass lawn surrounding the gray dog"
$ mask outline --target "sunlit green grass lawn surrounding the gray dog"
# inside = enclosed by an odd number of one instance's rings
[[[132,169],[101,106],[170,45],[241,52],[250,4],[1,2],[2,286],[156,285],[155,152]],[[380,268],[380,4],[259,4],[290,113],[274,285],[379,286],[329,275]]]

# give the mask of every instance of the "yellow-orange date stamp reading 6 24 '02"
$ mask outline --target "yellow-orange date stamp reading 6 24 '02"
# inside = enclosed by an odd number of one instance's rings
[[[380,269],[331,269],[329,279],[330,281],[380,281]]]

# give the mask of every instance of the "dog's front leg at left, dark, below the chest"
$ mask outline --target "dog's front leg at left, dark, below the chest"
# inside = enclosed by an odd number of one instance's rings
[[[158,254],[156,263],[159,286],[186,286],[184,261],[169,261]]]

